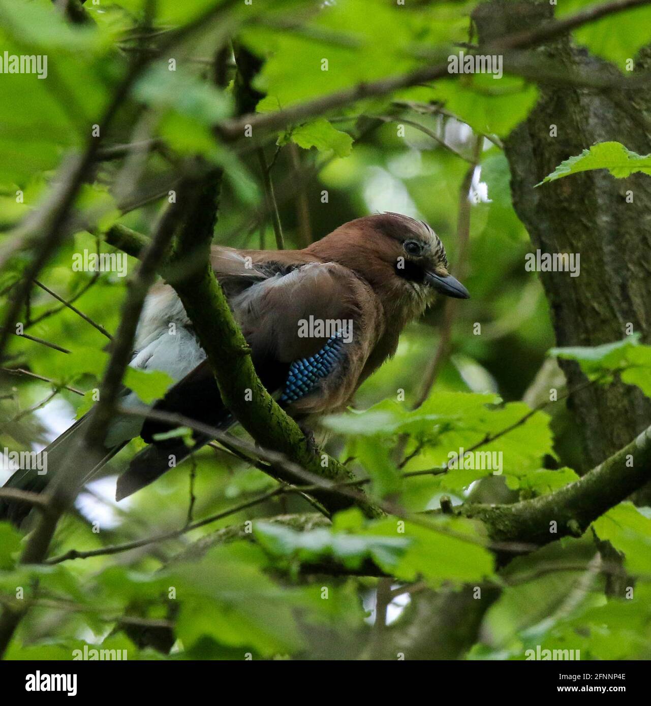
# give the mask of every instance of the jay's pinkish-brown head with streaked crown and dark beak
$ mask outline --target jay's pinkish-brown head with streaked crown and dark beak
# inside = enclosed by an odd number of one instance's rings
[[[441,239],[424,221],[380,213],[345,223],[310,248],[355,270],[390,304],[421,313],[436,294],[468,299],[448,272]]]

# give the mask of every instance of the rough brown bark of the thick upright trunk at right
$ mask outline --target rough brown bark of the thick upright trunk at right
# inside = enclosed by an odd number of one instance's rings
[[[534,28],[554,6],[522,1],[480,6],[474,20],[483,42]],[[535,49],[542,67],[553,59],[567,71],[611,73],[569,37]],[[631,57],[633,58],[633,57]],[[648,71],[651,51],[635,59]],[[563,160],[597,142],[616,140],[639,154],[651,152],[651,95],[643,90],[595,90],[553,83],[539,86],[539,102],[506,140],[515,211],[533,250],[579,253],[580,275],[540,273],[559,346],[592,346],[620,340],[627,324],[651,342],[651,179],[615,179],[605,170],[534,185]],[[550,136],[551,126],[557,136]],[[631,200],[631,194],[633,201]],[[570,387],[585,378],[573,361],[561,361]],[[585,445],[583,471],[631,441],[651,421],[651,402],[638,388],[617,382],[575,393],[569,406]]]

